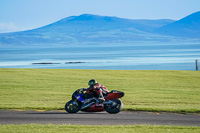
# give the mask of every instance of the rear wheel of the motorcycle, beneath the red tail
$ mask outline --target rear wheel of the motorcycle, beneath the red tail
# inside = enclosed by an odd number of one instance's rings
[[[123,108],[123,103],[119,99],[112,99],[111,104],[105,104],[104,109],[110,114],[119,113]]]

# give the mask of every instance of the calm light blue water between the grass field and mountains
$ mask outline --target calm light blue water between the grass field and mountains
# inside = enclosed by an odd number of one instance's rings
[[[0,47],[0,68],[195,70],[196,59],[200,44],[191,43]]]

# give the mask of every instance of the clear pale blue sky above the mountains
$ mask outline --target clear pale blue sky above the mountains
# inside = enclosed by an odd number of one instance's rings
[[[69,16],[181,19],[200,11],[200,0],[0,0],[0,33],[34,29]]]

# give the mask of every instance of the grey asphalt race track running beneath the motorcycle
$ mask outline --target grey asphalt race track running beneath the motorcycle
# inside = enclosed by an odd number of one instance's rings
[[[108,114],[106,112],[68,114],[62,111],[13,111],[0,110],[0,124],[81,124],[81,125],[180,125],[200,126],[198,114],[172,114],[125,112]]]

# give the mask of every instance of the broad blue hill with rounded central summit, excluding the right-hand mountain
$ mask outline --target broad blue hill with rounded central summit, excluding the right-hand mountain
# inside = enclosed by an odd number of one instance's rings
[[[131,20],[83,14],[21,32],[0,34],[0,44],[96,43],[167,39],[151,32],[173,20]]]

